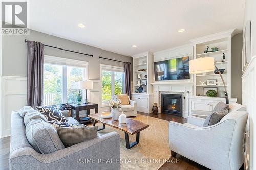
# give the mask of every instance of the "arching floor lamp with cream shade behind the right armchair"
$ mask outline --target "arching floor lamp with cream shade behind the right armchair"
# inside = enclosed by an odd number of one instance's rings
[[[201,58],[197,58],[197,59],[189,61],[189,73],[190,74],[211,72],[211,71],[214,71],[215,69],[217,69],[217,71],[219,72],[222,83],[224,85],[226,104],[229,104],[227,87],[226,87],[225,81],[221,75],[220,70],[214,64],[214,58],[213,57],[203,57],[203,58],[201,57]]]

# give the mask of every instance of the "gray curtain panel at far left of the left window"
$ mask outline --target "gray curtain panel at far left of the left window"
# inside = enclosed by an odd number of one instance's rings
[[[27,41],[27,45],[27,106],[36,109],[36,106],[42,106],[42,98],[44,95],[44,44],[35,41]]]

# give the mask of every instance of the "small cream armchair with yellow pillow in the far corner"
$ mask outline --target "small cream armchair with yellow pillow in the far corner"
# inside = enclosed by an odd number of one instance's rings
[[[129,98],[129,104],[130,105],[121,105],[119,110],[119,113],[122,114],[122,112],[126,115],[126,117],[136,117],[137,116],[137,102],[132,101]],[[114,95],[114,100],[117,100],[117,95]]]

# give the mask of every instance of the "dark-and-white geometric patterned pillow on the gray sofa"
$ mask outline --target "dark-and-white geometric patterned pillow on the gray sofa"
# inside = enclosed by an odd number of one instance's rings
[[[44,114],[47,121],[67,122],[66,117],[58,110],[56,105],[36,106],[36,108]]]

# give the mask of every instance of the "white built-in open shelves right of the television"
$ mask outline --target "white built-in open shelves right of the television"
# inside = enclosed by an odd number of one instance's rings
[[[225,81],[229,98],[231,96],[231,37],[233,36],[234,29],[228,30],[226,32],[205,36],[202,38],[191,40],[194,43],[194,59],[199,57],[213,57],[215,60],[215,65],[219,69],[225,69],[222,76]],[[209,46],[208,51],[211,48],[217,47],[218,51],[204,53],[207,46]],[[225,60],[223,60],[223,54],[225,54]],[[224,85],[221,81],[219,74],[212,72],[207,72],[207,74],[194,74],[194,87],[193,94],[204,95],[205,87],[216,87],[218,91],[218,97],[220,97],[220,91],[224,91]],[[219,82],[217,85],[206,85],[207,80],[216,79]],[[200,82],[204,82],[205,85],[201,85]],[[223,93],[222,93],[223,94]]]

